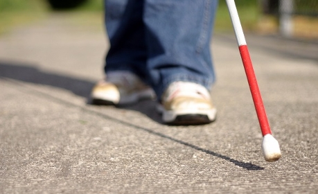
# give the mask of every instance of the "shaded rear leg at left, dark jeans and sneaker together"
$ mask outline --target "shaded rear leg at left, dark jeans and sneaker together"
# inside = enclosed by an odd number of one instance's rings
[[[92,103],[124,105],[141,98],[154,98],[154,92],[144,83],[148,73],[142,15],[141,0],[105,1],[110,49],[105,60],[105,79],[93,88]]]

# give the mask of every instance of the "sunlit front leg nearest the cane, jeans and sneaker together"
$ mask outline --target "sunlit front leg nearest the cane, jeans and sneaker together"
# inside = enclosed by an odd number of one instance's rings
[[[163,121],[215,120],[209,89],[215,80],[210,40],[217,0],[145,0],[147,68]]]

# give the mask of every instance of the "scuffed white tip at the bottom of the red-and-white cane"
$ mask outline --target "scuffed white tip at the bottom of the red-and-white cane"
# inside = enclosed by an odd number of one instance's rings
[[[279,142],[272,134],[266,134],[263,137],[262,150],[266,161],[276,161],[281,157]]]

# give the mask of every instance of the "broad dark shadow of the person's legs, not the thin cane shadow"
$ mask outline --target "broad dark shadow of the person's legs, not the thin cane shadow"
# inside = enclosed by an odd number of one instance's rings
[[[38,85],[47,85],[66,89],[77,96],[86,98],[88,104],[91,104],[89,94],[92,87],[95,85],[95,82],[91,82],[89,80],[71,78],[69,76],[58,75],[57,73],[41,71],[41,69],[37,68],[36,64],[27,64],[21,62],[0,61],[0,78],[10,78],[13,80],[19,80],[21,82],[29,82]],[[152,120],[161,123],[159,114],[154,111],[155,105],[155,101],[143,100],[134,105],[127,105],[118,108],[141,112]]]

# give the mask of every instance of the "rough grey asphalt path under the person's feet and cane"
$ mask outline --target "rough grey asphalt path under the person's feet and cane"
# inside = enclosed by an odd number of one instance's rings
[[[154,101],[87,104],[103,26],[51,15],[0,37],[0,193],[318,193],[318,44],[246,35],[282,158],[262,136],[232,34],[215,35],[218,120],[167,126]]]

